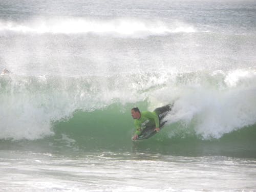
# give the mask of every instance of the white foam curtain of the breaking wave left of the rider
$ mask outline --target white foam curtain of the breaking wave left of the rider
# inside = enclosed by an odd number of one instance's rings
[[[129,90],[108,89],[108,79],[90,79],[1,77],[0,138],[40,139],[53,135],[53,123],[71,118],[76,110],[102,109],[115,99],[136,102]]]

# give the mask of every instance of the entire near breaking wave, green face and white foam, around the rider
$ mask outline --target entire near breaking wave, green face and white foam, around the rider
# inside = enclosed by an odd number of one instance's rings
[[[1,76],[1,146],[255,157],[254,80],[250,69],[161,76]],[[131,108],[153,111],[173,102],[160,133],[131,141]]]

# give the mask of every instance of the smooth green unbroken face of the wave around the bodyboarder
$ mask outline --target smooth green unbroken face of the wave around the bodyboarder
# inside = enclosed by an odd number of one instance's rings
[[[145,108],[145,103],[138,105]],[[170,123],[152,138],[132,142],[130,106],[122,106],[122,112],[116,104],[105,110],[77,112],[70,120],[55,125],[55,139],[60,142],[66,139],[73,147],[90,152],[132,150],[181,156],[256,157],[255,125],[224,134],[219,139],[204,139],[192,126],[184,129],[180,122]]]

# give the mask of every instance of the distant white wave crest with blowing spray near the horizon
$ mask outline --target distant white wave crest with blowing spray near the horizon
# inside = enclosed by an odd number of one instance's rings
[[[169,33],[193,33],[193,26],[174,22],[172,25],[162,21],[139,19],[95,20],[86,18],[36,19],[25,23],[0,21],[0,31],[18,33],[96,33],[99,35],[116,34],[121,36],[166,35]]]

